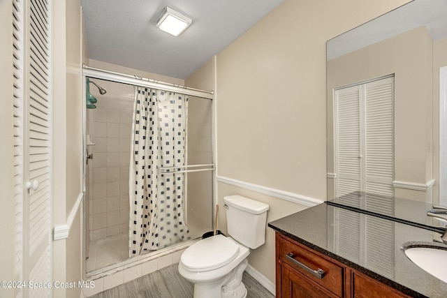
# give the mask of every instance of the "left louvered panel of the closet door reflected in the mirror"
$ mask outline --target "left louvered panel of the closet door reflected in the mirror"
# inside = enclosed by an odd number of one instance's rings
[[[335,93],[336,196],[360,189],[360,96],[359,86]]]

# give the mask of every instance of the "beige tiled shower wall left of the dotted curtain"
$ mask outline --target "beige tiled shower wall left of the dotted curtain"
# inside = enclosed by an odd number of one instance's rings
[[[87,134],[94,146],[89,154],[89,234],[91,240],[129,232],[129,163],[133,87],[92,79],[107,90],[90,91],[98,102],[87,110]]]

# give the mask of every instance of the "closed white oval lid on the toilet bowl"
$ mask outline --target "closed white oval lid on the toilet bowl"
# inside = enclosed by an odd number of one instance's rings
[[[205,271],[227,265],[236,258],[239,246],[218,234],[202,239],[186,248],[180,260],[190,271]]]

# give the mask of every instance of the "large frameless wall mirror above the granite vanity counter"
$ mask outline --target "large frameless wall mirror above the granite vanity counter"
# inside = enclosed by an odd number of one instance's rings
[[[367,191],[447,204],[439,195],[444,66],[445,0],[411,1],[328,40],[328,200]]]

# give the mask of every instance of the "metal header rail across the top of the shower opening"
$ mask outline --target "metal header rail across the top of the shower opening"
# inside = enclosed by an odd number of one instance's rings
[[[100,68],[94,68],[90,66],[82,65],[82,73],[86,77],[92,77],[96,79],[119,82],[124,84],[130,84],[134,86],[149,87],[154,89],[160,89],[165,91],[173,91],[190,96],[197,96],[200,98],[214,99],[214,91],[205,91],[200,89],[194,89],[189,87],[180,86],[177,84],[171,84],[166,82],[160,82],[157,80],[148,79],[145,77],[138,77],[136,75],[126,75],[124,73],[115,73],[114,71],[104,70]]]

